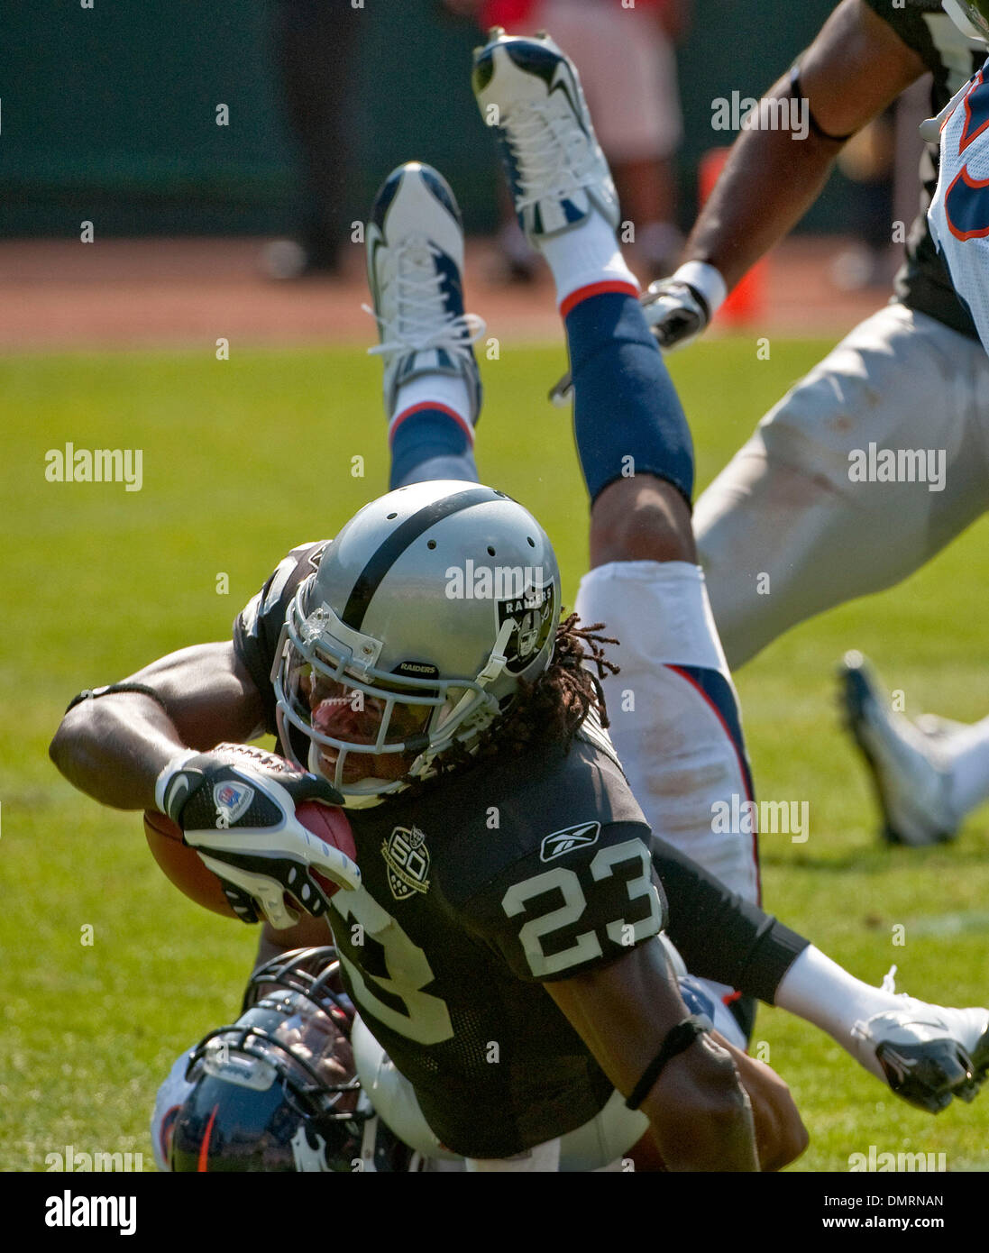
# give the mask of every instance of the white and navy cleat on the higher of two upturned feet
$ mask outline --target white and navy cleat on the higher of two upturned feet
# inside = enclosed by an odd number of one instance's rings
[[[495,26],[474,53],[473,85],[533,244],[582,226],[595,211],[618,228],[618,197],[580,79],[548,35],[521,39]]]

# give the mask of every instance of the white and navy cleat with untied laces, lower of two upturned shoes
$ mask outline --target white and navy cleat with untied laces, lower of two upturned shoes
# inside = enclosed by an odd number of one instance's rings
[[[464,228],[454,193],[431,165],[407,162],[385,179],[367,223],[367,283],[385,358],[385,410],[419,375],[460,375],[476,422],[481,385],[473,345],[485,323],[464,313]]]

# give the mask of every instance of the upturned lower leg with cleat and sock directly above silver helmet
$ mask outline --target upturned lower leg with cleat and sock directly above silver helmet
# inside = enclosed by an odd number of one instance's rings
[[[484,323],[464,312],[464,232],[454,194],[409,162],[379,190],[367,224],[367,281],[385,362],[390,487],[478,481],[474,427],[481,385],[473,343]]]

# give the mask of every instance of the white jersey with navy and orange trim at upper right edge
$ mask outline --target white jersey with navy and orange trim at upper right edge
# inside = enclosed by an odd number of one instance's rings
[[[940,175],[928,219],[989,352],[989,61],[959,94],[940,143]]]

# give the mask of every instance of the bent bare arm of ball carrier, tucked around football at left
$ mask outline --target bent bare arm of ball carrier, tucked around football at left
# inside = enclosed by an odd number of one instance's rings
[[[183,648],[123,682],[158,699],[113,692],[81,700],[49,748],[70,783],[118,809],[154,808],[155,779],[178,753],[251,739],[263,718],[261,695],[231,642]]]

